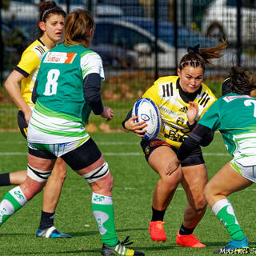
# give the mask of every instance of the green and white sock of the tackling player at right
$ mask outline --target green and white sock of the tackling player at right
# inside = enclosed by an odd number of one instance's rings
[[[242,227],[239,225],[234,214],[234,209],[228,199],[222,199],[216,202],[212,207],[212,210],[224,224],[232,239],[241,241],[245,238],[245,235],[242,232]]]

